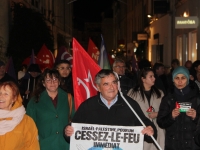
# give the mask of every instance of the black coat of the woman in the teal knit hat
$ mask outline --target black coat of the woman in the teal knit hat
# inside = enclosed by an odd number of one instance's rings
[[[161,101],[157,123],[166,130],[165,150],[200,150],[194,142],[194,132],[200,116],[198,89],[194,82],[190,82],[182,90],[174,89]],[[192,120],[186,113],[180,113],[175,119],[172,118],[172,110],[176,102],[191,102],[192,108],[197,112],[196,118]]]

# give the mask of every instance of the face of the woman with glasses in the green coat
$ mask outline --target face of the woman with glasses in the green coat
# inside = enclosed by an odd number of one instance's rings
[[[47,92],[56,92],[58,90],[60,82],[58,78],[50,78],[47,74],[47,77],[44,79],[43,86],[46,88]]]

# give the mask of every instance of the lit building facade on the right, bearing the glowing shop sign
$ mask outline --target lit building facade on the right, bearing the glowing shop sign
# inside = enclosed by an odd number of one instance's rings
[[[199,0],[118,0],[115,3],[114,43],[124,39],[127,60],[136,54],[152,64],[162,62],[169,66],[174,58],[181,65],[200,58]],[[122,15],[125,19],[119,25]],[[119,48],[119,44],[113,47]]]

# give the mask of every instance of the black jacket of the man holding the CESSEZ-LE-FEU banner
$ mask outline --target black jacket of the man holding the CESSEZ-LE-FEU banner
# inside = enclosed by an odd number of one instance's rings
[[[156,138],[157,130],[155,125],[145,117],[138,103],[128,96],[125,96],[125,98],[140,116],[144,124],[146,126],[152,126],[154,129],[154,137]],[[72,122],[118,126],[142,126],[120,95],[118,95],[117,102],[111,106],[110,109],[101,101],[99,94],[89,98],[79,106]],[[152,142],[149,136],[145,135],[144,139],[145,141]]]

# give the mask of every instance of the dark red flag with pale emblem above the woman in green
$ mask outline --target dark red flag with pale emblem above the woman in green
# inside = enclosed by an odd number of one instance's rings
[[[45,68],[53,68],[55,58],[54,55],[48,48],[43,44],[39,53],[37,54],[37,58],[41,62],[40,69],[44,70]]]

